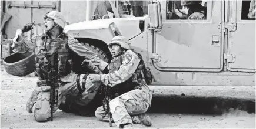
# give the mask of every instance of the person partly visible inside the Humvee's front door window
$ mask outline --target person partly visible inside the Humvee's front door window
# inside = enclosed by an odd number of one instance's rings
[[[184,1],[181,5],[188,9],[187,19],[205,20],[207,17],[207,8],[201,5],[202,1]]]

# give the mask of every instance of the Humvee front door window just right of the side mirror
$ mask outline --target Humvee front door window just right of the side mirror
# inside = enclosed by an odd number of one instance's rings
[[[207,1],[167,1],[167,20],[206,20]]]

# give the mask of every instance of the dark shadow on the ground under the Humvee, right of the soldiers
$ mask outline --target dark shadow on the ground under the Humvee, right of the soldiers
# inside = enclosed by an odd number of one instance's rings
[[[230,108],[255,113],[255,99],[221,97],[162,96],[154,94],[151,113],[223,114]]]

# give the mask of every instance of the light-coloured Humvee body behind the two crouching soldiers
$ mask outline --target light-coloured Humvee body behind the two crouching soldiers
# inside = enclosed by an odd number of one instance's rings
[[[154,74],[152,85],[255,86],[255,13],[248,16],[250,4],[202,1],[206,18],[191,20],[181,1],[141,1],[128,10],[122,3],[115,7],[119,16],[94,13],[96,20],[68,25],[65,32],[93,46],[107,62],[111,39],[127,37]]]

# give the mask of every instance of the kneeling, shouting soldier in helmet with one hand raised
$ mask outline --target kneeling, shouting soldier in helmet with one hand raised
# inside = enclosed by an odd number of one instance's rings
[[[96,53],[82,46],[78,40],[64,33],[65,18],[61,12],[52,11],[46,13],[45,33],[26,39],[25,32],[33,27],[33,23],[26,24],[22,29],[18,29],[14,38],[12,50],[14,52],[24,52],[32,50],[36,54],[36,73],[38,81],[35,90],[32,92],[26,104],[26,110],[33,113],[35,120],[48,121],[51,114],[49,104],[50,86],[48,79],[49,64],[46,54],[58,52],[58,103],[54,106],[54,112],[58,109],[64,96],[78,96],[84,94],[85,104],[88,104],[95,96],[99,84],[88,80],[90,75],[75,73],[74,70],[85,69],[87,72],[101,74],[107,63],[101,60]],[[81,59],[81,60],[79,60]],[[81,66],[82,61],[85,60]],[[97,67],[96,67],[97,66]],[[85,90],[86,87],[86,90]]]

